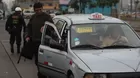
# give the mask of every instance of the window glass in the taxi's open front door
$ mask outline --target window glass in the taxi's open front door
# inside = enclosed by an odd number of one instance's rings
[[[52,26],[47,25],[44,29],[41,44],[45,45],[45,46],[49,46],[49,43],[50,43],[49,37],[51,40],[53,40],[55,42],[59,42],[59,37],[56,34],[55,29]]]

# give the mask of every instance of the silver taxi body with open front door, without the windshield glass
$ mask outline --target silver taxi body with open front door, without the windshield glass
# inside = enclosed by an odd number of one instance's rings
[[[106,26],[105,24],[124,24],[122,25],[124,29],[130,28],[133,33],[132,36],[135,35],[139,41],[136,43],[140,43],[138,34],[126,22],[109,16],[92,20],[92,16],[92,14],[58,15],[53,18],[54,24],[45,23],[41,45],[38,50],[39,72],[53,78],[140,78],[140,47],[112,49],[73,49],[71,47],[71,37],[73,35],[71,28],[74,29],[76,27],[74,25],[86,27],[88,26],[86,24],[92,24],[93,26],[95,24],[103,24],[103,26]],[[47,26],[54,29],[53,32],[58,37],[58,43],[53,43],[53,36],[48,37],[46,35]],[[60,31],[59,27],[61,28]],[[58,47],[61,47],[61,41],[63,42],[64,38],[66,38],[66,44],[63,47],[65,49],[60,49]],[[49,39],[53,40],[49,42]],[[85,39],[88,38],[85,37]],[[74,45],[80,43],[82,42],[75,42]],[[54,48],[51,45],[57,47]]]

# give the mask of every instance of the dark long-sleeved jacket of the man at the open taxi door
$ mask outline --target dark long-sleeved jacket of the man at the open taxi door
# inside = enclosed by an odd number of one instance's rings
[[[30,37],[33,41],[40,41],[42,36],[40,29],[44,26],[45,21],[53,23],[51,16],[44,12],[32,15],[26,28],[26,37]]]

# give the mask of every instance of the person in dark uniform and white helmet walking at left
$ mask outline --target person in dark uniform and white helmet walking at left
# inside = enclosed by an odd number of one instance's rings
[[[26,24],[24,21],[23,16],[21,15],[22,9],[20,7],[15,8],[15,12],[11,14],[5,25],[5,30],[10,34],[10,46],[11,46],[11,53],[14,53],[14,43],[16,40],[17,44],[17,53],[20,53],[20,46],[21,46],[21,31],[26,28]]]

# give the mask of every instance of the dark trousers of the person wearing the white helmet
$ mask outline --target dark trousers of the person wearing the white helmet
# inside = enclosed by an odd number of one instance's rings
[[[15,43],[17,46],[21,45],[21,32],[11,32],[10,33],[10,44],[13,45]]]

